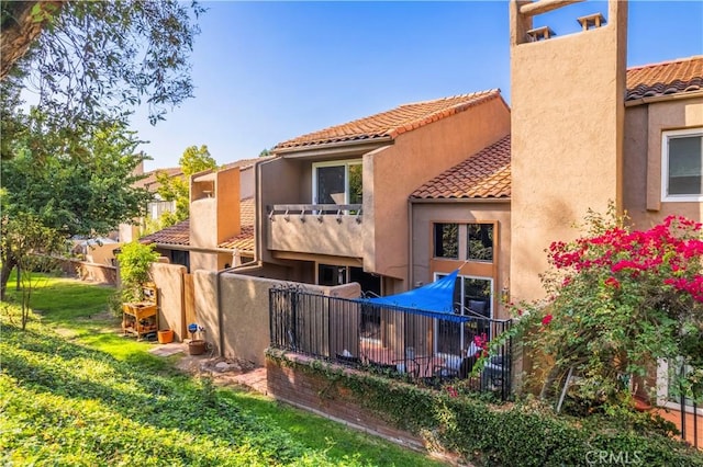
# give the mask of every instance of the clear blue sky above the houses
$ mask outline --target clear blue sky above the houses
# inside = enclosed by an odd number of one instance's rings
[[[205,1],[192,54],[196,98],[133,127],[178,166],[207,145],[219,163],[400,104],[499,88],[510,103],[506,1]],[[703,1],[629,2],[628,67],[703,54]],[[589,0],[537,16],[558,35],[607,11]]]

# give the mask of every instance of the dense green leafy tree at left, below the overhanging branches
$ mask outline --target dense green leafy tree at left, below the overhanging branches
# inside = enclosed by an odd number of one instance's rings
[[[104,235],[120,223],[143,215],[150,194],[132,186],[142,175],[134,169],[147,156],[135,153],[140,141],[122,124],[105,125],[82,135],[75,152],[55,152],[63,137],[46,132],[42,115],[12,146],[14,157],[0,166],[2,175],[1,296],[10,272],[23,253],[7,237],[13,220],[31,218],[64,239]],[[34,247],[33,247],[34,248]]]

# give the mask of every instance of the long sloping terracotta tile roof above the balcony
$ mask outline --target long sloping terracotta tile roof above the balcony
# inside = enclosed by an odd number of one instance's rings
[[[331,143],[361,141],[379,138],[394,139],[402,133],[413,130],[446,116],[462,112],[481,102],[498,99],[499,96],[500,90],[493,89],[434,101],[404,104],[388,112],[355,119],[343,125],[331,126],[319,132],[279,143],[274,148],[274,151],[288,148],[315,147]]]

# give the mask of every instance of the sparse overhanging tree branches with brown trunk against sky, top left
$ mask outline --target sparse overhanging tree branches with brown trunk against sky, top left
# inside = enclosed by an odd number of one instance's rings
[[[192,96],[197,2],[0,2],[0,80],[23,77],[55,128],[125,117],[143,99],[152,123]]]

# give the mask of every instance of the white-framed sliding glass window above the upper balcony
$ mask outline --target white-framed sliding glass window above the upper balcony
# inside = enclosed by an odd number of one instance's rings
[[[361,204],[361,161],[313,164],[314,204]]]

